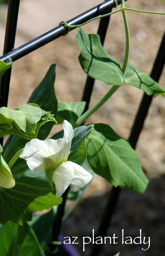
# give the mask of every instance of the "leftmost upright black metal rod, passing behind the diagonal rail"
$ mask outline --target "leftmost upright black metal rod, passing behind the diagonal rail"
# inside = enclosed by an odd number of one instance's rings
[[[20,0],[9,0],[3,54],[14,49],[19,6]],[[3,106],[7,107],[8,104],[11,72],[12,68],[9,68],[0,80],[0,108]],[[0,144],[3,144],[3,138],[0,138]]]

